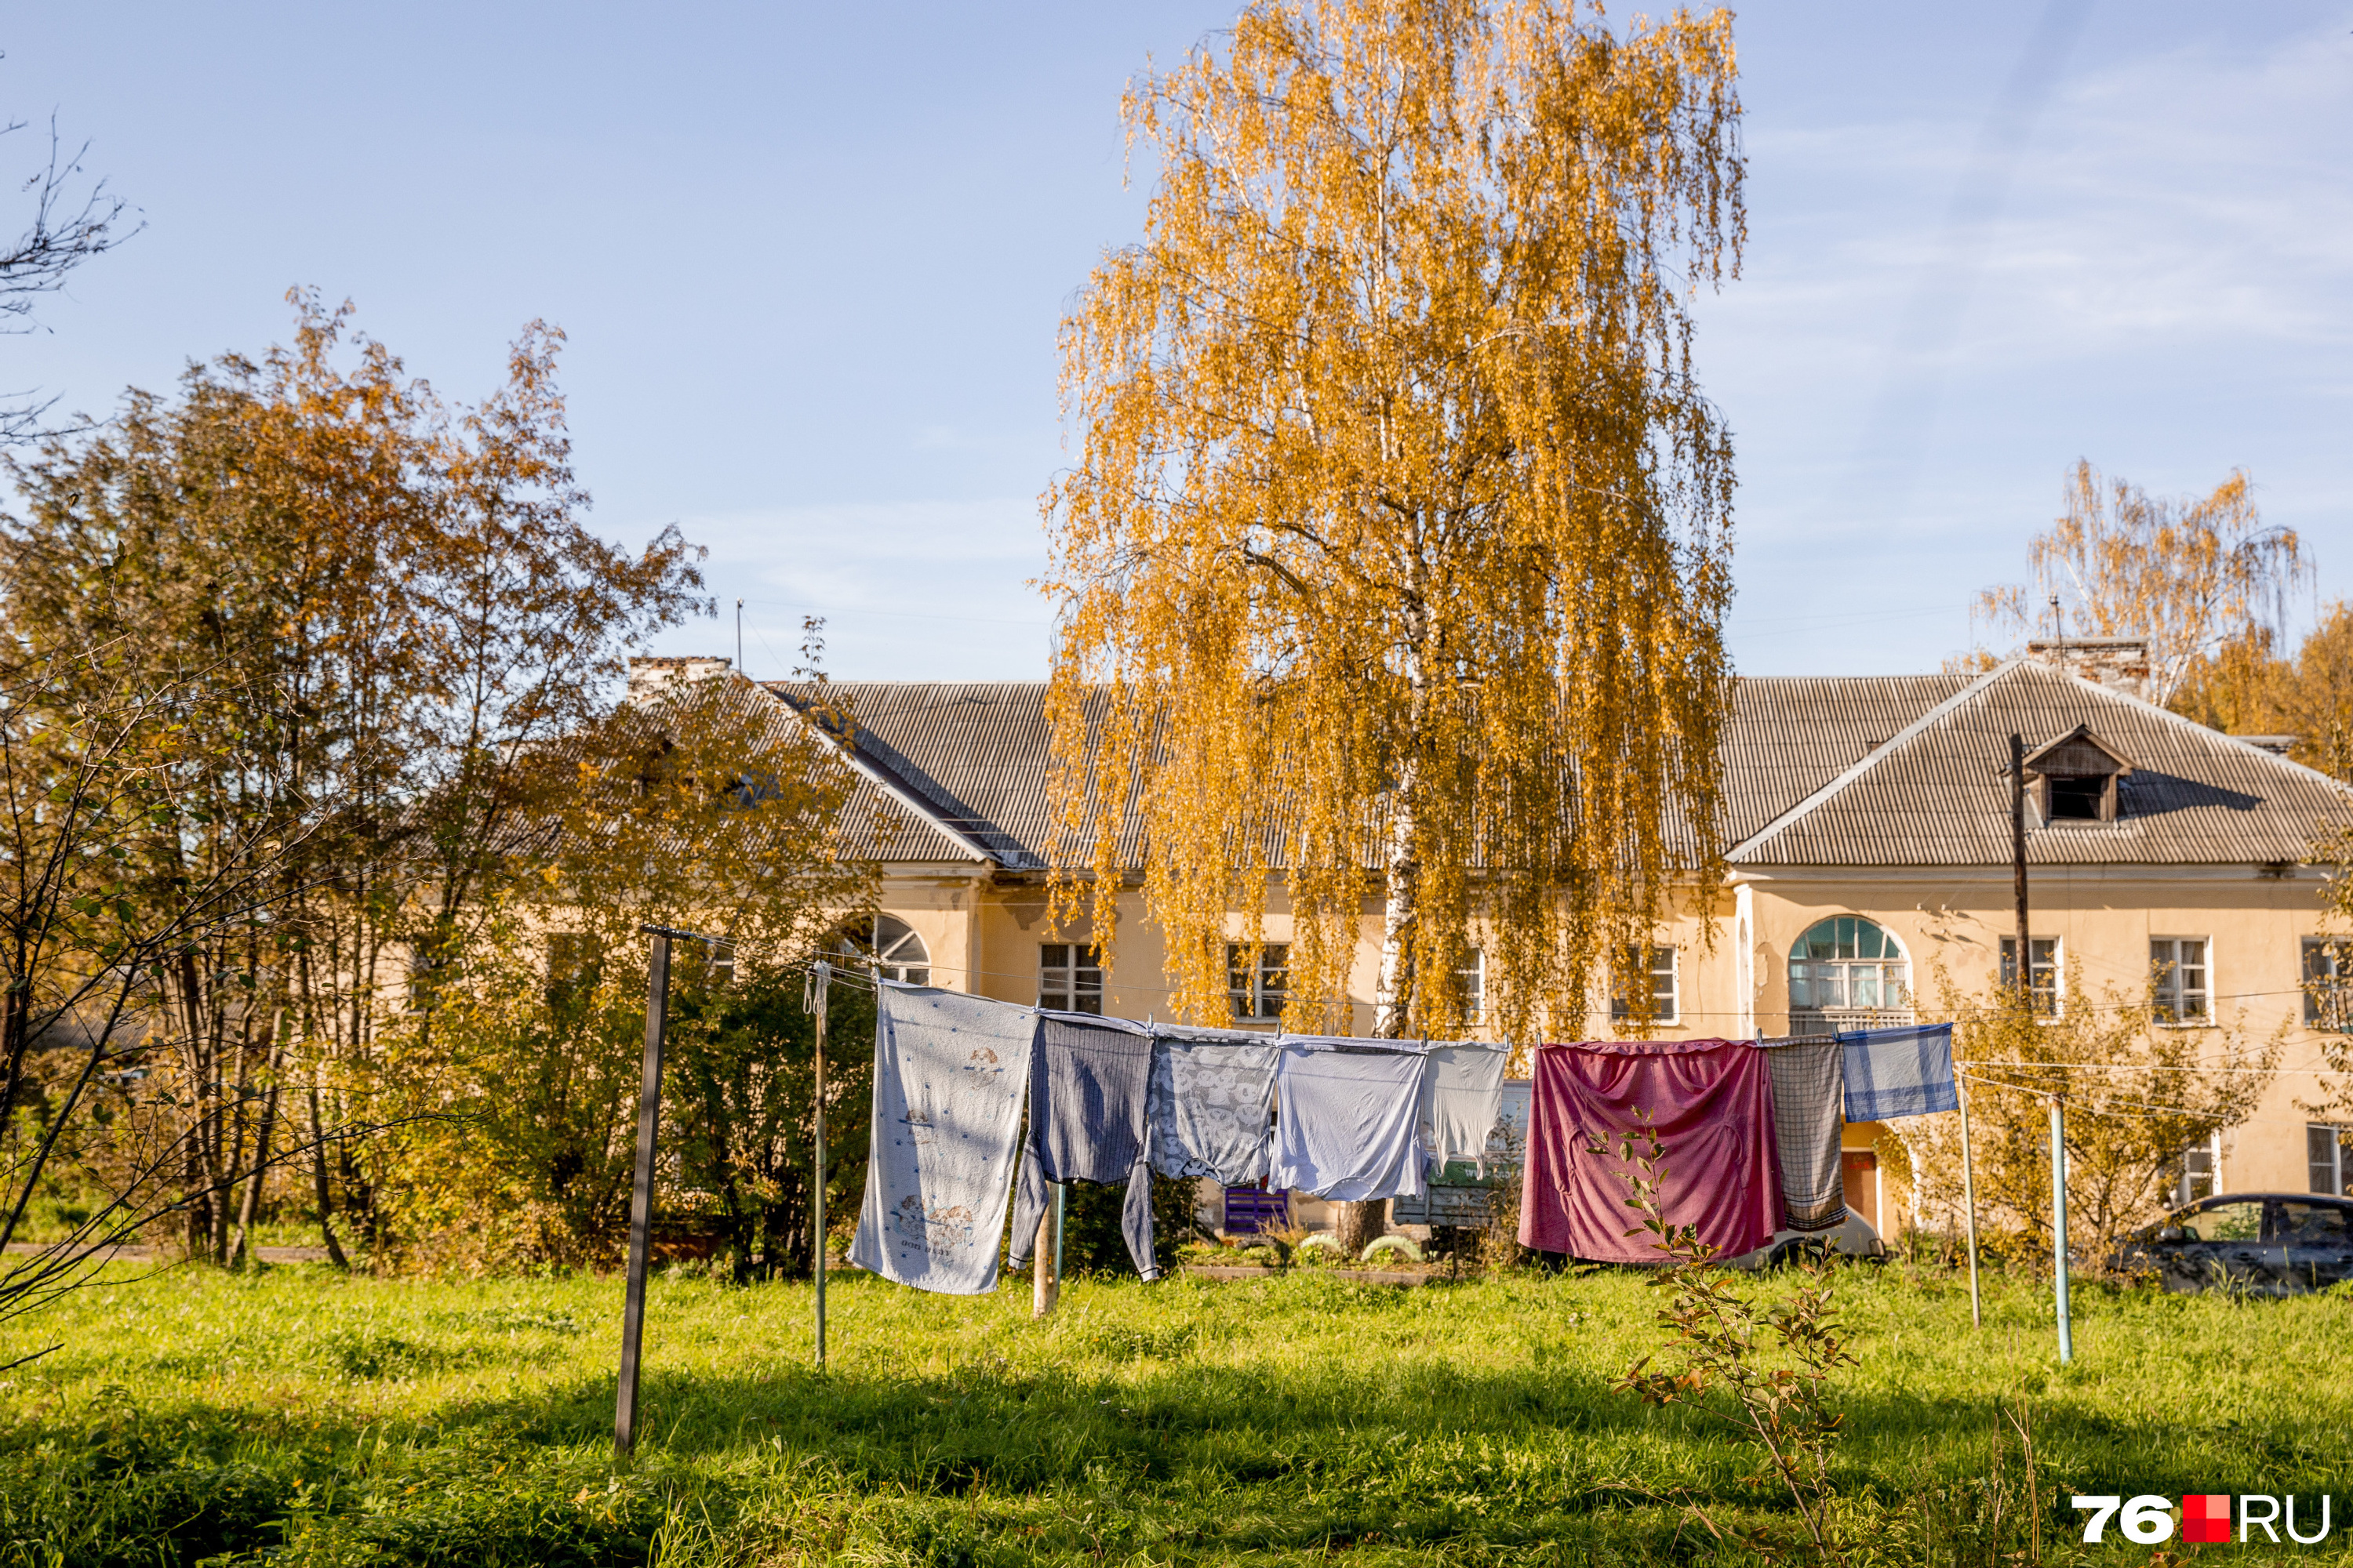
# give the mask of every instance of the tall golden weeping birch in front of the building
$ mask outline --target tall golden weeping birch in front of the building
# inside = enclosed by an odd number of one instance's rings
[[[1372,893],[1377,1034],[1461,1027],[1473,943],[1508,1034],[1579,1027],[1720,858],[1732,19],[1261,0],[1125,118],[1158,188],[1045,498],[1061,910],[1113,940],[1132,785],[1184,1013],[1280,865],[1297,1027],[1348,1027]]]

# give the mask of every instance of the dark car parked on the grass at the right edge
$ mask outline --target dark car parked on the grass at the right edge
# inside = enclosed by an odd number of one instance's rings
[[[2353,1279],[2353,1199],[2224,1192],[2134,1232],[2108,1265],[2153,1269],[2167,1291],[2322,1291]]]

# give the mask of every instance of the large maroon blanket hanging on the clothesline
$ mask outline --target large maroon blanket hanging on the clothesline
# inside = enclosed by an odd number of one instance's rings
[[[1520,1244],[1595,1262],[1664,1262],[1628,1208],[1619,1140],[1635,1112],[1664,1145],[1659,1199],[1725,1258],[1772,1239],[1781,1222],[1781,1159],[1765,1053],[1729,1039],[1537,1046],[1534,1126],[1520,1192]],[[1605,1145],[1595,1159],[1588,1147]],[[1635,1140],[1635,1157],[1642,1154]]]

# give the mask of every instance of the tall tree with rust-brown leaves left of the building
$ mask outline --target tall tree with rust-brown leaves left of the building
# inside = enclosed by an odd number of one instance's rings
[[[104,428],[9,465],[0,611],[19,651],[108,649],[188,691],[207,771],[120,867],[167,907],[315,816],[273,860],[268,924],[209,926],[153,976],[191,1124],[188,1246],[226,1260],[280,1119],[306,1124],[325,1241],[369,1239],[360,1145],[379,1032],[482,907],[536,748],[588,724],[626,649],[699,607],[675,529],[642,552],[598,538],[569,470],[560,334],[525,329],[508,383],[445,404],[400,360],[294,294],[289,348],[195,364],[179,397],[127,393]],[[292,1100],[289,1100],[292,1095]],[[214,1117],[207,1098],[233,1105]]]

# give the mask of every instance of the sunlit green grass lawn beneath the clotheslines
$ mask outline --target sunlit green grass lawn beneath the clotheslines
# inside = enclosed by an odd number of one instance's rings
[[[0,1568],[1746,1561],[1678,1488],[1720,1523],[1795,1519],[1739,1446],[1609,1392],[1659,1345],[1626,1274],[1080,1281],[1049,1324],[1026,1288],[849,1276],[826,1373],[807,1286],[666,1276],[628,1476],[616,1281],[122,1274],[0,1342],[64,1342],[0,1375]],[[2329,1542],[2280,1559],[2353,1561],[2353,1300],[2082,1288],[2066,1371],[2026,1281],[1993,1284],[1984,1333],[1958,1281],[1901,1265],[1840,1302],[1849,1561],[2028,1544],[1995,1401],[2031,1413],[2047,1561],[2151,1561],[2071,1544],[2073,1490],[2337,1493]]]

